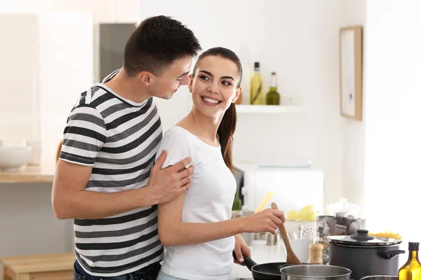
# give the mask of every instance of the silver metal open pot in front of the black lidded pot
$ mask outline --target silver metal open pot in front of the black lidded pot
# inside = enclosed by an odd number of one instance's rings
[[[349,280],[351,270],[333,265],[293,265],[281,269],[282,280]]]

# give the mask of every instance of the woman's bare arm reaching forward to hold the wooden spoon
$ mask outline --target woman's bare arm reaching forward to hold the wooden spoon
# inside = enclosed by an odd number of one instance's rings
[[[241,232],[275,233],[285,221],[283,212],[265,209],[258,214],[215,223],[184,223],[182,207],[185,195],[158,206],[158,232],[163,246],[199,244],[231,237]]]

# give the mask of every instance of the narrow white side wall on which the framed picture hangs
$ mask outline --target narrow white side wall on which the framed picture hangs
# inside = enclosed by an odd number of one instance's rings
[[[366,0],[342,1],[342,26],[363,26],[363,120],[342,118],[344,197],[364,213],[364,158],[366,150]]]

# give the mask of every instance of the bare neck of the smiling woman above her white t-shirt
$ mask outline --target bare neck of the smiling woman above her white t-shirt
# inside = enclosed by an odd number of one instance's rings
[[[183,118],[178,125],[196,135],[196,137],[204,141],[206,144],[218,146],[219,143],[216,134],[222,117],[223,116],[205,116],[193,106],[192,111],[190,111],[190,113]]]

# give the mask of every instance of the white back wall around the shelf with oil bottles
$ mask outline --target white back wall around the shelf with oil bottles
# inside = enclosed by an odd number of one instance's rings
[[[347,12],[342,1],[266,0],[256,5],[251,0],[218,0],[188,8],[169,0],[142,3],[146,1],[140,0],[140,20],[171,15],[194,31],[203,49],[221,45],[234,50],[243,63],[243,103],[248,101],[255,61],[260,61],[266,92],[269,73],[276,71],[281,98],[304,97],[308,110],[304,115],[239,115],[234,160],[269,155],[313,158],[314,168],[325,172],[333,202],[342,196],[338,42]],[[346,5],[354,8],[352,1]],[[158,104],[166,128],[189,109],[187,88],[177,94],[180,102]]]

